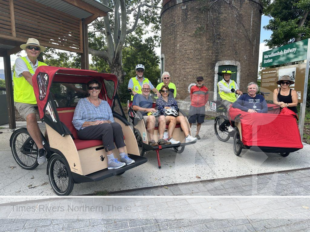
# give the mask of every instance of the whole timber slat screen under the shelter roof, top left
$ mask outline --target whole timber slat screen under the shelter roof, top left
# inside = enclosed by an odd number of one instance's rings
[[[43,46],[83,52],[80,19],[32,0],[0,0],[0,5],[0,37],[36,38]]]

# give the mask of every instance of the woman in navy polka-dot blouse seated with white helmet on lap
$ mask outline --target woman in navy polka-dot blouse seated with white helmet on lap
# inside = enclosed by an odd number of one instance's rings
[[[172,96],[169,95],[169,87],[168,85],[163,85],[162,88],[160,88],[160,93],[162,94],[162,97],[159,97],[156,100],[156,107],[157,110],[160,112],[160,115],[165,115],[166,109],[174,109],[176,111],[179,110],[178,103],[175,101],[175,99]],[[172,138],[173,131],[175,129],[175,125],[181,124],[181,129],[184,132],[185,135],[185,142],[193,142],[196,141],[197,138],[193,138],[188,133],[188,127],[186,125],[186,121],[184,116],[171,116],[171,115],[165,115],[166,116],[166,124],[168,124],[168,142],[171,142],[171,144],[178,144],[180,141],[176,141]],[[158,139],[162,139],[164,135],[165,128],[158,128]]]

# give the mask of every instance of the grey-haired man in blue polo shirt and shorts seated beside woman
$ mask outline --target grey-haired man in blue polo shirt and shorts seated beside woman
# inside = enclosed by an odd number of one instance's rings
[[[157,112],[153,107],[153,99],[150,96],[150,85],[145,83],[142,85],[142,94],[136,94],[132,100],[132,109],[135,111],[140,111],[143,115],[143,122],[147,126],[149,145],[158,146],[158,143],[155,142],[153,134],[154,127],[166,127],[165,117],[155,117],[153,115],[148,115],[148,112]],[[164,129],[165,130],[165,129]],[[161,145],[168,144],[170,142],[160,141]],[[164,142],[164,143],[162,143]],[[171,143],[170,143],[171,144]]]

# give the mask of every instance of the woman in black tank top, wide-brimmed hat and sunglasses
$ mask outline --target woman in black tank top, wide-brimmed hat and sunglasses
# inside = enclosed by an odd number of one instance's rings
[[[290,80],[290,76],[282,76],[282,78],[277,81],[277,84],[279,84],[281,88],[276,88],[273,91],[273,104],[280,105],[281,108],[287,107],[297,114],[297,92],[290,88],[290,85],[294,83],[294,81]]]

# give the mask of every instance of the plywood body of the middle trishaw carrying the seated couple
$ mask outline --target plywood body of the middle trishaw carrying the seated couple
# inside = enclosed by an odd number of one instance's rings
[[[152,107],[155,108],[156,104],[153,103]],[[143,122],[142,114],[139,111],[136,112],[132,109],[132,101],[128,101],[127,108],[128,108],[128,116],[132,120],[133,130],[135,133],[135,138],[136,138],[137,143],[138,143],[140,156],[144,156],[144,153],[146,151],[154,151],[155,150],[157,153],[158,168],[161,168],[161,163],[160,163],[160,158],[159,158],[159,151],[160,150],[165,149],[165,148],[173,148],[175,150],[175,152],[182,153],[184,151],[184,147],[186,145],[196,143],[196,141],[186,143],[184,132],[182,131],[180,124],[176,124],[175,130],[173,131],[173,134],[172,134],[172,137],[175,140],[180,141],[179,144],[168,144],[168,145],[158,145],[158,146],[149,145],[149,135],[148,135],[147,128]],[[191,135],[189,123],[188,123],[187,117],[185,116],[184,112],[179,109],[178,115],[184,116],[185,121],[186,121],[186,125],[188,127],[189,135]],[[164,137],[165,137],[165,134],[167,135],[167,133],[168,133],[167,131],[168,131],[168,125],[166,125]],[[153,138],[155,141],[158,140],[158,127],[154,128]],[[166,138],[168,138],[168,137],[166,137]]]

